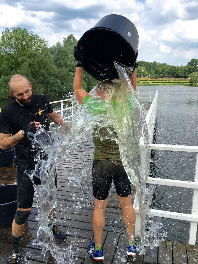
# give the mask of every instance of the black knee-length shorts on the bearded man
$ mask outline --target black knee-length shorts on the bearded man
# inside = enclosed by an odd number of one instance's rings
[[[41,185],[41,180],[33,176],[34,183]],[[57,186],[57,177],[55,178],[55,185]],[[34,197],[34,187],[30,177],[26,174],[24,169],[17,168],[16,175],[17,186],[17,208],[31,208]]]

